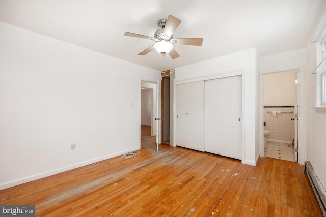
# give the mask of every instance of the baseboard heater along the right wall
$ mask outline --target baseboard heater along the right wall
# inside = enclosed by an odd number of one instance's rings
[[[307,173],[308,175],[312,189],[314,190],[316,198],[320,205],[322,214],[323,216],[326,216],[326,190],[323,187],[321,181],[319,180],[309,161],[305,161],[305,173]]]

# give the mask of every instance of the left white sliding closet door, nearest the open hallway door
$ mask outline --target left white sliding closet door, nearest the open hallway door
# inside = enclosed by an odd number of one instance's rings
[[[176,85],[176,144],[205,151],[204,81]]]

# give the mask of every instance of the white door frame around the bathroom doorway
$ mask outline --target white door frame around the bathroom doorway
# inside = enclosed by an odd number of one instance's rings
[[[306,159],[306,140],[305,140],[305,79],[304,79],[304,66],[301,67],[293,67],[293,68],[285,68],[280,70],[273,71],[265,71],[259,72],[259,156],[264,157],[264,105],[263,105],[263,75],[285,72],[285,71],[298,71],[298,84],[297,84],[297,110],[298,117],[297,120],[297,159],[298,163],[304,165]]]

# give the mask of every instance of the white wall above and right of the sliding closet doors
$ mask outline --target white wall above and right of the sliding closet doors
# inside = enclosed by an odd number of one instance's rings
[[[197,64],[180,67],[175,70],[176,82],[205,77],[213,74],[223,74],[242,70],[243,79],[243,158],[242,162],[256,165],[259,157],[258,146],[258,75],[256,49],[245,50],[230,55],[202,61]]]

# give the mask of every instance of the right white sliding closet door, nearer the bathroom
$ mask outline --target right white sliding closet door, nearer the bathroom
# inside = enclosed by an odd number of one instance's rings
[[[205,151],[241,159],[241,76],[205,81]]]

